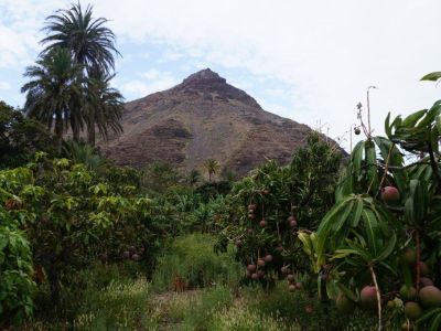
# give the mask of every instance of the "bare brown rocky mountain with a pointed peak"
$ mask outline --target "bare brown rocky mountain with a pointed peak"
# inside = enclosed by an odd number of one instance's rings
[[[239,175],[267,159],[288,162],[311,132],[305,125],[263,110],[209,68],[127,103],[122,127],[122,135],[99,143],[117,164],[142,168],[166,161],[191,171],[215,159]]]

